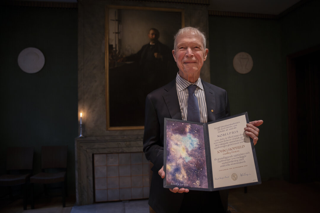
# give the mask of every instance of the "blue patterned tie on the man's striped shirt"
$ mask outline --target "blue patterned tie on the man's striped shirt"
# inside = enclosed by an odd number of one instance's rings
[[[200,122],[200,110],[198,99],[195,95],[196,85],[190,85],[188,87],[189,96],[188,96],[188,110],[187,110],[187,120]]]

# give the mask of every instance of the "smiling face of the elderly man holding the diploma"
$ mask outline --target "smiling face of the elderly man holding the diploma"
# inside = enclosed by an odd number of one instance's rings
[[[207,58],[208,49],[204,49],[199,35],[180,35],[176,39],[176,49],[172,50],[172,54],[177,62],[179,75],[186,80],[186,76],[193,76],[197,80]]]

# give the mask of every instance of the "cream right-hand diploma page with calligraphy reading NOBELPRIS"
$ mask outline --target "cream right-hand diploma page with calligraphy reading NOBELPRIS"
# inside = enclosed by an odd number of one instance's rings
[[[215,188],[257,182],[245,115],[208,125]],[[231,178],[221,178],[230,176]]]

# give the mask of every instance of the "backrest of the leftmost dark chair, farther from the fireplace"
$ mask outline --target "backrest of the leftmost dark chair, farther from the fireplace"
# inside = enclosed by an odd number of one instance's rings
[[[34,147],[8,147],[7,170],[32,170]]]

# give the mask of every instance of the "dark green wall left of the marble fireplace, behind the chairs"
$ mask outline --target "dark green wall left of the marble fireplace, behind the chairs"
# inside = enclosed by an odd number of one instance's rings
[[[41,171],[41,146],[68,145],[68,187],[75,191],[74,139],[77,121],[77,10],[36,7],[0,9],[1,149],[34,146],[34,173]],[[40,49],[40,72],[23,72],[17,58]]]

